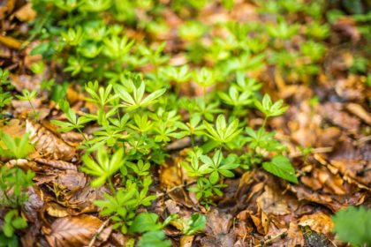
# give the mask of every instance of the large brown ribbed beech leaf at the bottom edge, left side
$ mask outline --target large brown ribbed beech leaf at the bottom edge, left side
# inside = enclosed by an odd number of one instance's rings
[[[51,231],[46,239],[51,247],[84,246],[91,241],[102,223],[98,218],[87,214],[59,218],[51,224]],[[109,236],[110,228],[107,228],[99,237],[105,240]]]

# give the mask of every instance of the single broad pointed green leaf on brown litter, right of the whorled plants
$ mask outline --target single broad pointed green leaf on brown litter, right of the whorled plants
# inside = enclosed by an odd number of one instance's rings
[[[299,183],[295,169],[289,159],[283,155],[275,156],[272,161],[264,162],[262,167],[271,174],[284,178],[292,183]]]

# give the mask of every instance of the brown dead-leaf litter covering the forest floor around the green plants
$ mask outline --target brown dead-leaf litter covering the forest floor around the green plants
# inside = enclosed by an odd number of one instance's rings
[[[172,28],[185,21],[169,9],[163,13]],[[130,237],[111,228],[111,222],[94,205],[108,187],[90,186],[91,177],[79,169],[82,151],[78,146],[84,141],[83,136],[78,131],[57,131],[50,122],[65,117],[57,103],[50,100],[50,94],[40,89],[42,79],[50,75],[58,82],[71,78],[60,72],[57,62],[46,63],[46,72],[41,74],[31,71],[32,64],[42,60],[42,56],[30,55],[30,47],[38,43],[38,38],[26,48],[22,47],[21,38],[25,41],[30,37],[28,23],[35,15],[29,4],[8,10],[6,5],[0,7],[0,66],[10,71],[11,94],[20,94],[25,88],[39,92],[32,105],[14,97],[4,108],[0,122],[1,131],[11,137],[29,132],[34,144],[34,152],[27,159],[1,161],[3,165],[35,173],[34,186],[28,189],[28,201],[21,209],[29,227],[18,232],[20,242],[23,246],[123,246]],[[239,3],[231,11],[213,5],[198,18],[204,23],[216,19],[248,23],[260,20],[261,15],[254,4]],[[131,32],[131,37],[147,35]],[[176,52],[181,49],[177,37],[168,34],[160,38],[167,41],[165,54],[170,56],[170,64],[185,64],[186,58]],[[291,45],[301,41],[294,40]],[[224,179],[227,187],[223,196],[213,198],[215,206],[207,210],[187,191],[185,170],[179,165],[186,158],[189,143],[184,139],[168,143],[170,155],[165,163],[151,168],[154,182],[149,191],[157,198],[147,210],[161,219],[171,213],[181,217],[202,213],[207,220],[202,232],[190,236],[171,224],[163,228],[174,246],[344,244],[335,238],[331,216],[346,206],[369,207],[371,202],[371,90],[366,83],[369,74],[367,78],[367,72],[351,70],[367,40],[359,33],[356,21],[345,16],[330,24],[325,44],[319,71],[310,81],[304,78],[292,82],[271,64],[264,64],[259,73],[253,73],[262,82],[261,92],[275,100],[283,99],[289,107],[284,115],[269,119],[267,128],[276,131],[276,139],[287,146],[286,156],[296,169],[299,183],[287,183],[259,168],[238,170],[235,177]],[[87,108],[92,109],[82,86],[70,83],[66,90],[65,98],[73,110],[83,114]],[[190,90],[181,86],[178,94],[197,96],[202,94],[202,88],[193,85]],[[37,120],[29,115],[33,108]],[[253,114],[249,125],[259,126],[262,121],[261,115]],[[95,126],[84,129],[87,138],[94,131]]]

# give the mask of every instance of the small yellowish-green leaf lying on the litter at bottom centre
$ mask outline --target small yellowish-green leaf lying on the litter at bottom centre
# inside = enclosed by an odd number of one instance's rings
[[[157,222],[158,215],[155,213],[140,213],[135,217],[130,232],[143,233],[162,228],[162,225]]]

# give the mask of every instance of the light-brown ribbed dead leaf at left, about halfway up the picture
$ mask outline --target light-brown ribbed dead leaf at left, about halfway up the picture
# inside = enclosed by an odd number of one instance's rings
[[[43,127],[42,124],[27,120],[26,131],[30,132],[30,140],[43,158],[72,161],[76,156],[74,147],[67,145],[53,132]]]

